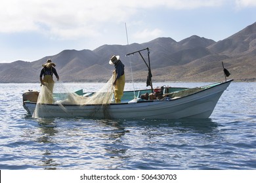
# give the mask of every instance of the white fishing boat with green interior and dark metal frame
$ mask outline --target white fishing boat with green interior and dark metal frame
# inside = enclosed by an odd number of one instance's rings
[[[144,50],[148,50],[145,48]],[[139,50],[140,52],[143,50]],[[131,54],[135,54],[133,52]],[[129,56],[129,54],[127,54]],[[140,56],[142,56],[140,54]],[[142,57],[144,62],[145,59]],[[85,117],[100,119],[180,119],[180,118],[209,118],[222,93],[232,80],[226,80],[227,70],[224,69],[225,81],[198,86],[196,88],[173,88],[169,86],[152,87],[152,75],[148,50],[148,81],[149,90],[125,91],[121,103],[101,104],[37,104],[38,92],[23,93],[23,107],[28,114],[37,111],[39,118],[49,117]],[[94,93],[77,91],[81,97],[91,97]],[[60,93],[53,94],[60,97]]]

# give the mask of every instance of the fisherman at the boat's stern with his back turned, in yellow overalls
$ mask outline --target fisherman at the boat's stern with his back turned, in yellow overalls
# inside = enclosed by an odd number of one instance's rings
[[[43,92],[41,93],[41,103],[53,103],[53,74],[56,76],[57,80],[60,79],[54,67],[56,67],[56,64],[53,63],[51,59],[47,59],[47,63],[43,64],[43,69],[41,69],[40,82],[42,86],[41,92]]]

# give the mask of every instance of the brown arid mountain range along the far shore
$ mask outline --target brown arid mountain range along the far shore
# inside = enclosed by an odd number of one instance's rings
[[[63,50],[36,61],[0,63],[0,82],[39,82],[43,63],[51,58],[62,82],[106,82],[114,70],[110,56],[119,55],[125,78],[146,82],[148,67],[139,53],[149,48],[153,82],[209,82],[224,79],[223,65],[235,81],[256,81],[256,22],[238,33],[215,42],[197,35],[182,41],[160,37],[142,44],[102,45],[95,50]],[[148,52],[140,52],[148,63]],[[55,79],[56,80],[56,79]]]

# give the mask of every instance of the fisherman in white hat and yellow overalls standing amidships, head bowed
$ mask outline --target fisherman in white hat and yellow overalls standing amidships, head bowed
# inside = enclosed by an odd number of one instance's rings
[[[116,103],[121,103],[123,89],[125,88],[125,65],[119,60],[119,56],[112,56],[109,61],[110,65],[115,65],[114,75],[114,95]]]

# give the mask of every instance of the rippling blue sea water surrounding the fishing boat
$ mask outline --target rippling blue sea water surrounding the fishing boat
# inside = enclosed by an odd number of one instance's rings
[[[60,85],[89,92],[104,84]],[[232,82],[207,120],[33,119],[22,93],[39,84],[0,88],[0,169],[256,169],[255,82]]]

